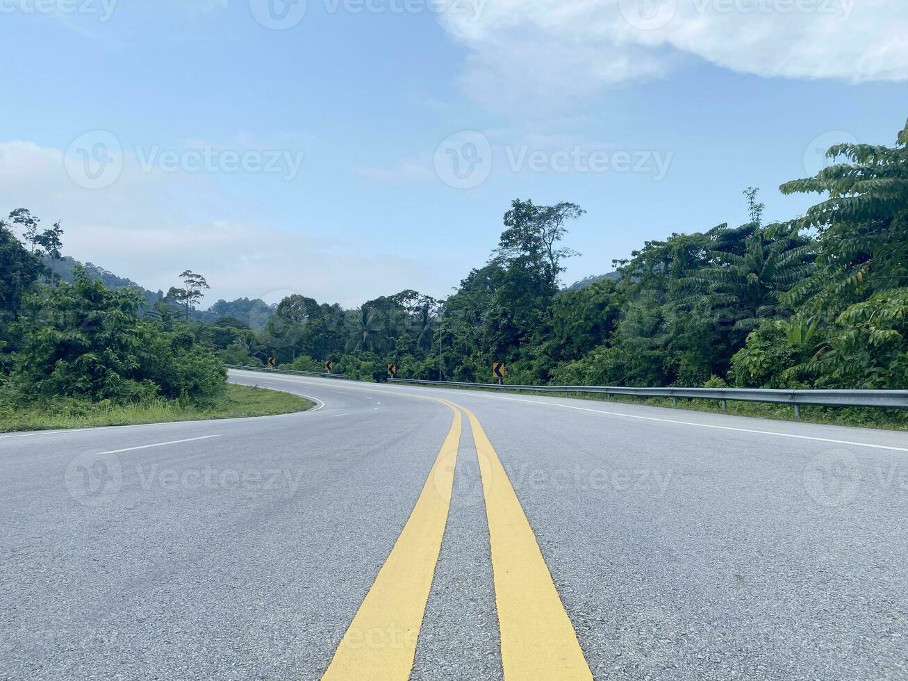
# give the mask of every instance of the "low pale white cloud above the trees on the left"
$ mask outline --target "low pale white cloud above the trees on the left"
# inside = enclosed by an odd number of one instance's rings
[[[450,262],[360,256],[319,225],[236,222],[231,198],[210,178],[143,173],[128,155],[120,178],[92,191],[70,179],[60,150],[0,142],[0,215],[15,208],[28,208],[45,226],[62,218],[67,255],[147,289],[166,291],[186,268],[201,272],[212,285],[204,304],[299,291],[351,307],[408,288],[441,295],[456,281]]]

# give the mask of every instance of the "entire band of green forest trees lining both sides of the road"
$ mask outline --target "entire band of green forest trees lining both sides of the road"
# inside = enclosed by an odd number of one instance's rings
[[[892,147],[828,155],[833,165],[781,187],[817,195],[803,216],[767,223],[747,189],[745,224],[646,242],[568,290],[559,278],[583,209],[515,200],[488,262],[449,298],[400,291],[354,310],[293,295],[199,312],[208,284],[192,271],[145,309],[84,269],[69,282],[62,230],[29,232],[16,211],[0,227],[5,394],[204,399],[222,381],[212,358],[271,356],[301,370],[334,360],[367,380],[396,363],[404,378],[488,381],[504,361],[523,384],[908,388],[908,127]]]

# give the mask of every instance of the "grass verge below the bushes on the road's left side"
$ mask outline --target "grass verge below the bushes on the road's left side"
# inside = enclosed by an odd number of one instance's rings
[[[227,386],[219,404],[212,408],[185,406],[178,402],[154,400],[125,406],[94,405],[86,410],[84,403],[72,408],[62,407],[48,411],[34,406],[0,410],[0,432],[15,430],[55,430],[93,428],[96,426],[130,426],[138,423],[163,423],[205,419],[238,419],[247,416],[272,416],[305,411],[314,407],[306,400],[289,392],[252,388],[244,385]]]

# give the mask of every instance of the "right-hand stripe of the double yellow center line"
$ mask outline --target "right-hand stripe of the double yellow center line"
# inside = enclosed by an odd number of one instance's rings
[[[492,574],[506,679],[592,679],[536,535],[479,419],[469,417],[489,518]]]

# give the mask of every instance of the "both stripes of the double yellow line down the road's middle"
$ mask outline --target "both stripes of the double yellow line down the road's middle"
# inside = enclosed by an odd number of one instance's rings
[[[476,444],[489,520],[504,676],[592,679],[536,536],[479,419],[448,400],[412,397],[448,405],[454,419],[407,524],[322,678],[409,678],[448,521],[463,412]]]

